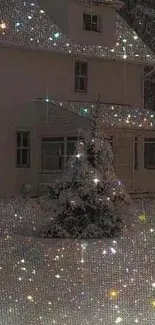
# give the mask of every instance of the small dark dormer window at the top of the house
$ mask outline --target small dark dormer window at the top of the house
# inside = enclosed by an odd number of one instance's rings
[[[92,32],[100,32],[100,16],[90,13],[83,14],[83,29],[92,31]]]

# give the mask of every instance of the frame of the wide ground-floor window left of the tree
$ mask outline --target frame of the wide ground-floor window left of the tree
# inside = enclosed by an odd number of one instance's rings
[[[43,141],[49,139],[49,141]],[[61,139],[61,140],[60,140]],[[72,140],[71,140],[72,139]],[[67,160],[69,157],[71,157],[72,155],[68,155],[67,152],[67,144],[68,143],[76,143],[77,142],[77,137],[42,137],[41,138],[41,166],[40,166],[40,172],[43,174],[54,174],[54,173],[63,173],[65,166],[67,164]],[[57,168],[57,169],[46,169],[43,168],[43,143],[63,143],[63,154],[60,156],[62,157],[62,169]],[[47,155],[48,157],[48,155]],[[50,157],[57,157],[55,155],[50,155]]]

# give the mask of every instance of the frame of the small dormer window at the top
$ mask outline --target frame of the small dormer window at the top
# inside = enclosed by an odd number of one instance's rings
[[[90,17],[90,22],[87,19]],[[93,17],[96,17],[96,22],[93,22]],[[87,28],[87,24],[90,24],[90,29]],[[96,29],[93,29],[96,26]],[[101,33],[101,16],[97,13],[84,12],[83,13],[83,30],[87,32]]]

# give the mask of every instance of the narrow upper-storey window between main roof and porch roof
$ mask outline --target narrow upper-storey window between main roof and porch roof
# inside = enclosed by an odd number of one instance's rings
[[[87,62],[75,62],[75,91],[87,92]]]

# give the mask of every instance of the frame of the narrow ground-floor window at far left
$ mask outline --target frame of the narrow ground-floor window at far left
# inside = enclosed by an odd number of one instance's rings
[[[28,145],[24,146],[23,145],[23,134],[27,133],[28,134],[28,138],[27,138],[27,142]],[[20,134],[21,136],[21,144],[20,146],[18,146],[17,143],[17,136],[18,134]],[[15,157],[16,157],[16,168],[30,168],[30,156],[31,156],[31,132],[30,130],[16,130],[16,134],[15,134],[15,143],[16,143],[16,152],[15,152]],[[22,164],[22,152],[23,150],[26,150],[27,152],[27,164]],[[20,164],[18,164],[18,152],[20,152]]]

